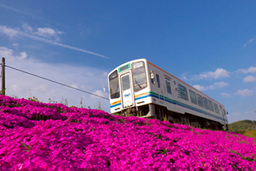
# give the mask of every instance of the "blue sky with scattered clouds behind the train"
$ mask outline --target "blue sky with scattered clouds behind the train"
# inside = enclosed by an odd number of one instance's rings
[[[256,120],[256,2],[0,0],[6,65],[109,98],[107,75],[148,59]],[[6,67],[6,95],[101,108],[109,100]],[[82,102],[82,103],[81,103]]]

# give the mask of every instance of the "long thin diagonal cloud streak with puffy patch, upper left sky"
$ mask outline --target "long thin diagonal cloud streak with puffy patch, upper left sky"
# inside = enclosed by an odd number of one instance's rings
[[[53,41],[52,37],[55,38],[56,40],[59,40],[59,37],[57,37],[56,35],[60,35],[62,32],[54,31],[50,28],[39,28],[38,32],[33,33],[31,31],[30,32],[29,31],[27,31],[27,32],[20,31],[19,29],[14,30],[11,28],[7,28],[6,26],[0,25],[0,33],[8,35],[8,36],[10,36],[10,38],[13,38],[14,36],[18,37],[18,38],[26,37],[26,38],[38,40],[43,43],[49,43],[49,44],[53,44],[53,45],[56,45],[59,47],[65,47],[65,48],[68,48],[68,49],[71,49],[74,51],[81,51],[81,52],[84,52],[87,54],[97,55],[97,56],[100,56],[101,58],[109,59],[105,55],[101,55],[101,54],[95,53],[93,51],[86,51],[86,50],[78,48],[78,47],[71,47],[71,46]]]

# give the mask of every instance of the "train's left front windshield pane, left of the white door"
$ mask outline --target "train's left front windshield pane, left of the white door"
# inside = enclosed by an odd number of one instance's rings
[[[120,97],[117,70],[109,75],[109,90],[111,99],[116,99]]]

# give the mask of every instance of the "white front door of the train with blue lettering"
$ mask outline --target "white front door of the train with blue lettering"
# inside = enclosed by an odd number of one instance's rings
[[[126,72],[120,76],[122,92],[122,108],[134,107],[134,93],[131,83],[131,74]]]

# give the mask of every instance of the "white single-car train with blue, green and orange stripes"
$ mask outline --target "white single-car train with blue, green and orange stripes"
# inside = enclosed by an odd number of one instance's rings
[[[224,105],[147,59],[124,63],[108,78],[113,114],[156,117],[200,128],[228,128]]]

